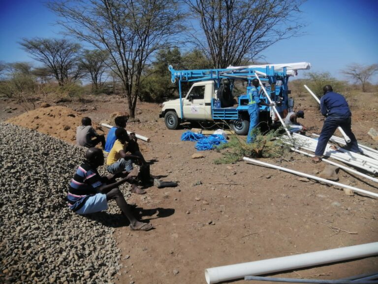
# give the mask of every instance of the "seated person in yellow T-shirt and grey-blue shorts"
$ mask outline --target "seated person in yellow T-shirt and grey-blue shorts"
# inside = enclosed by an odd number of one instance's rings
[[[109,152],[106,159],[107,170],[110,174],[123,174],[128,175],[133,167],[132,160],[136,161],[139,165],[143,164],[143,160],[140,156],[135,154],[127,154],[127,152],[133,152],[130,149],[130,138],[127,135],[126,129],[119,127],[116,129],[116,142]],[[136,184],[132,184],[131,192],[137,194],[145,194],[146,191],[138,187]]]

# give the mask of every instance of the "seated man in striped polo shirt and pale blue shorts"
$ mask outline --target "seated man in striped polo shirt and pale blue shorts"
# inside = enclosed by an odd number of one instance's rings
[[[67,196],[69,209],[77,214],[100,212],[108,208],[109,200],[115,199],[122,213],[130,221],[131,230],[152,229],[151,224],[136,220],[118,188],[122,183],[132,180],[132,174],[119,181],[115,180],[115,176],[101,177],[97,168],[104,164],[104,155],[98,148],[88,149],[85,158],[69,185]]]

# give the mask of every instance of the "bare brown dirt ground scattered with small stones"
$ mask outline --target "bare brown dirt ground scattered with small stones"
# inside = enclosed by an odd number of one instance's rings
[[[354,134],[359,142],[375,148],[378,142],[367,132],[378,125],[377,98],[375,93],[348,97]],[[74,100],[58,106],[49,102],[52,107],[10,121],[74,143],[81,117],[91,117],[98,132],[107,132],[98,124],[109,123],[111,113],[126,108],[126,99],[118,96],[87,99],[85,103]],[[309,133],[320,132],[322,119],[313,99],[296,97],[295,103],[297,109],[305,110],[301,122],[312,128]],[[131,196],[129,201],[138,205],[140,217],[149,220],[155,229],[116,229],[124,265],[117,283],[205,283],[204,270],[210,267],[378,241],[378,200],[358,194],[347,196],[339,188],[244,161],[216,165],[214,159],[221,156],[217,151],[204,151],[204,158],[192,159],[197,152],[194,143],[180,140],[186,129],[167,130],[163,119],[158,118],[159,111],[157,104],[138,103],[140,122],[128,123],[127,130],[151,138],[150,143],[139,144],[146,159],[155,160],[152,174],[178,181],[179,186],[150,187],[146,195]],[[0,121],[23,112],[14,101],[0,101]],[[266,161],[315,175],[325,167],[296,153],[286,161]],[[378,192],[373,182],[342,170],[338,177],[342,183]],[[339,279],[377,268],[378,258],[369,257],[273,275]]]

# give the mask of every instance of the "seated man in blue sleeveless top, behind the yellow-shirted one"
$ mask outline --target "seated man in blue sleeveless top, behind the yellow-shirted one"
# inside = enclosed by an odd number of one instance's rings
[[[105,143],[105,152],[110,152],[112,149],[114,142],[116,142],[116,130],[117,128],[125,128],[126,127],[126,122],[127,122],[127,116],[117,116],[114,119],[114,122],[116,124],[115,127],[110,128],[108,135],[106,136],[106,143]],[[129,142],[128,142],[128,150],[130,151],[131,154],[135,156],[139,156],[143,162],[143,164],[146,164],[146,160],[144,159],[140,149],[138,142],[136,142],[138,139],[136,138],[134,133],[130,133],[129,135]]]

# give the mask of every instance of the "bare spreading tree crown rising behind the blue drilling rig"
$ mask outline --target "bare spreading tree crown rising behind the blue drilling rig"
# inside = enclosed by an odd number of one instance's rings
[[[275,42],[298,36],[302,0],[184,0],[199,19],[194,35],[214,67],[251,60]]]

